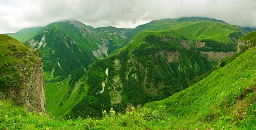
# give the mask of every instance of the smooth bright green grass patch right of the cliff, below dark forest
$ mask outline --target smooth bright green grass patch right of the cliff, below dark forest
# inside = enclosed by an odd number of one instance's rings
[[[71,89],[69,80],[70,77],[61,82],[45,85],[46,109],[49,115],[63,117],[87,93],[86,84],[78,84]],[[84,91],[80,91],[81,89]]]

